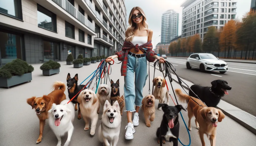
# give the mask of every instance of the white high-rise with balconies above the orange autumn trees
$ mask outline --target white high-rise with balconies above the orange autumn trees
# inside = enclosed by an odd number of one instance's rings
[[[236,0],[187,0],[181,7],[182,38],[199,34],[201,39],[208,27],[222,27],[231,19],[235,19]]]

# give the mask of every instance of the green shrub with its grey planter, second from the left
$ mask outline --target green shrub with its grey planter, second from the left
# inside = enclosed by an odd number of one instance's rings
[[[61,67],[61,64],[50,60],[45,62],[43,65],[41,65],[40,69],[43,70],[43,75],[50,76],[52,74],[59,73],[60,67]]]

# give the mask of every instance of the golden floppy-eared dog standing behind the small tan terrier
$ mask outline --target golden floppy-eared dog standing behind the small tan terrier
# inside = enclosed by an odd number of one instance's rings
[[[153,79],[153,84],[154,86],[157,86],[155,87],[153,94],[155,99],[159,99],[159,103],[164,103],[166,97],[166,104],[169,105],[169,93],[165,87],[165,80],[161,76],[158,76]],[[162,110],[162,107],[159,107],[158,110]]]

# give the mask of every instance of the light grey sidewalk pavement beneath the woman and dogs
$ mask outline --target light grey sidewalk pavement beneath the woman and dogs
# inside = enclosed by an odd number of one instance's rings
[[[117,61],[117,59],[115,59]],[[117,61],[118,62],[118,61]],[[48,120],[46,120],[45,128],[43,131],[42,142],[36,144],[36,140],[39,135],[39,120],[36,116],[34,109],[26,103],[26,99],[32,96],[41,97],[43,94],[49,94],[52,89],[51,86],[55,81],[66,82],[67,74],[70,73],[74,76],[78,73],[78,82],[81,83],[87,76],[89,76],[98,66],[91,64],[89,66],[83,66],[82,68],[73,68],[73,65],[66,65],[66,62],[60,62],[61,68],[60,73],[52,76],[42,76],[42,70],[39,69],[41,64],[33,64],[34,72],[32,73],[33,80],[25,84],[11,87],[10,89],[0,88],[0,146],[10,145],[24,145],[24,146],[55,146],[57,145],[57,138],[53,131],[50,129]],[[179,65],[179,64],[177,64]],[[114,64],[112,66],[112,73],[110,78],[113,81],[119,79],[120,82],[120,93],[123,94],[123,77],[120,73],[121,64]],[[180,70],[180,69],[178,69]],[[155,76],[162,76],[162,73],[156,70]],[[146,86],[143,90],[143,95],[148,94],[149,81],[152,88],[153,80],[153,67],[150,66],[150,80],[146,82]],[[180,88],[176,82],[172,82],[173,87]],[[110,82],[107,82],[110,85]],[[170,83],[168,83],[170,88]],[[94,88],[95,90],[96,88]],[[152,90],[152,89],[151,89]],[[67,90],[65,91],[66,96],[68,95]],[[173,93],[171,93],[173,96]],[[175,99],[174,99],[175,100]],[[157,108],[158,100],[156,101],[155,108]],[[170,105],[174,105],[170,99]],[[186,104],[182,104],[184,107]],[[99,116],[101,116],[102,111]],[[156,118],[151,122],[151,127],[146,127],[143,112],[139,110],[139,126],[135,127],[134,139],[125,140],[125,126],[127,125],[126,113],[122,116],[121,132],[119,135],[118,145],[127,146],[155,146],[157,144],[156,130],[160,126],[163,111],[156,109]],[[183,118],[188,124],[187,112],[182,111]],[[77,111],[75,112],[77,117]],[[201,141],[198,135],[198,130],[195,128],[195,123],[192,119],[192,131],[191,135],[191,146],[201,145]],[[180,140],[183,144],[189,144],[189,137],[187,134],[186,127],[179,117],[180,122]],[[98,120],[97,127],[100,125],[101,120]],[[85,122],[83,119],[74,120],[74,132],[71,137],[70,146],[74,145],[95,145],[100,146],[102,143],[98,141],[98,131],[95,135],[90,136],[90,131],[84,131]],[[62,137],[62,145],[64,145],[67,139],[67,135]],[[233,146],[233,145],[256,145],[256,135],[226,116],[222,122],[218,123],[216,145],[218,146]],[[206,145],[210,145],[209,140],[205,136]],[[170,143],[165,145],[172,145]],[[181,144],[179,143],[179,146]]]

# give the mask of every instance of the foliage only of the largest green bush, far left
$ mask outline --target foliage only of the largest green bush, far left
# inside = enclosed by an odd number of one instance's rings
[[[0,69],[0,77],[11,78],[12,76],[21,76],[25,73],[31,73],[34,71],[32,65],[27,64],[26,61],[15,59],[9,63],[6,63]]]

